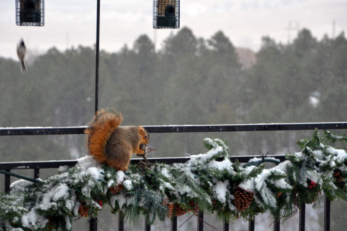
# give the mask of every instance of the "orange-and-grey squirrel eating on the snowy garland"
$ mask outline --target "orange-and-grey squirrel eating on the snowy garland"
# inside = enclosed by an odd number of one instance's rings
[[[119,126],[121,114],[101,110],[85,129],[88,135],[88,155],[97,162],[115,167],[117,171],[128,169],[131,155],[144,155],[149,144],[149,133],[142,126]]]

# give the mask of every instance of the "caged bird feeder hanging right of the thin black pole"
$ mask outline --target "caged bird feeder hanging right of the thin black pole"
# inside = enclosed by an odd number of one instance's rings
[[[180,0],[153,0],[153,28],[180,28]]]

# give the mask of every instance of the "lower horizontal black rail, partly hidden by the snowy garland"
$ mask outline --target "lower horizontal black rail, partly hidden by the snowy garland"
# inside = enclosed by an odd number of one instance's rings
[[[235,162],[239,160],[240,163],[248,162],[251,158],[262,157],[261,155],[239,155],[230,156],[230,160]],[[278,160],[285,161],[285,155],[266,155],[266,157],[274,157]],[[131,159],[131,163],[137,164],[142,159]],[[190,157],[160,157],[160,158],[147,158],[149,162],[162,162],[165,164],[184,163],[190,160]],[[37,161],[37,162],[2,162],[0,163],[0,170],[7,169],[56,169],[60,166],[74,166],[77,160],[50,160],[50,161]]]

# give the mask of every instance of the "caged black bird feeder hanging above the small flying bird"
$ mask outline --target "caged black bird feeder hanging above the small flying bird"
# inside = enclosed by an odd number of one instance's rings
[[[17,26],[44,26],[44,0],[16,0]]]

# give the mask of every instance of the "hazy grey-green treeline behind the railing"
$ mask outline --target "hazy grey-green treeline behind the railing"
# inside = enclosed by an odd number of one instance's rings
[[[242,69],[219,31],[205,40],[182,28],[160,51],[146,35],[133,49],[101,51],[99,108],[115,108],[123,125],[345,121],[347,40],[299,31],[291,44],[262,38],[257,62]],[[84,126],[94,115],[95,49],[55,48],[23,76],[0,58],[0,126]],[[340,131],[341,132],[341,131]],[[205,137],[225,139],[232,155],[294,151],[312,132],[151,134],[151,156],[204,152]],[[1,162],[71,159],[86,154],[84,135],[0,137]]]

